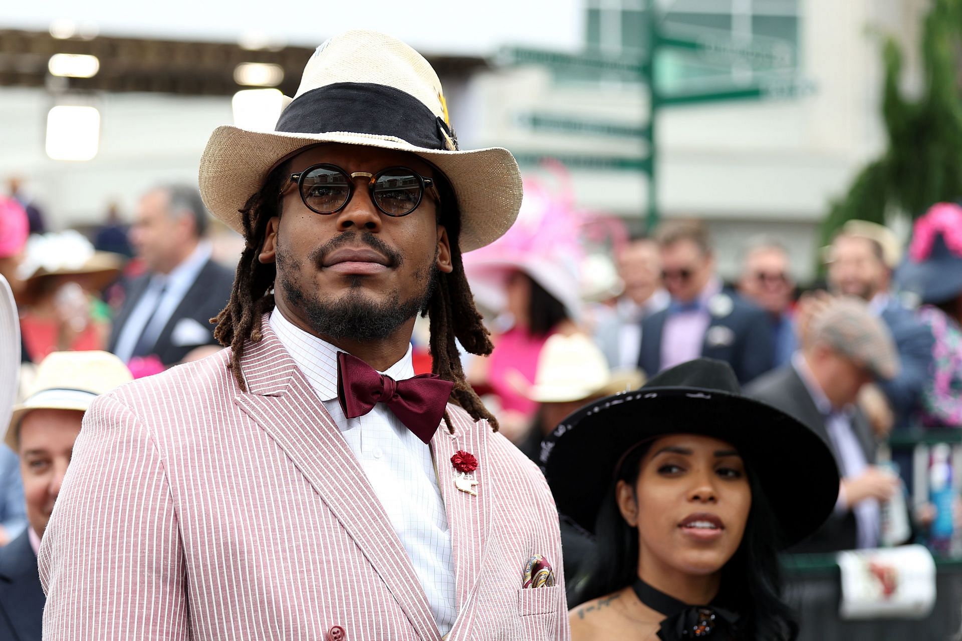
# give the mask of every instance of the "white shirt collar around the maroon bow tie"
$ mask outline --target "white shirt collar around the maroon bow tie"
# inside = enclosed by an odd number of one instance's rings
[[[293,358],[297,368],[307,377],[314,387],[321,401],[333,401],[338,398],[338,352],[344,350],[335,347],[326,340],[307,333],[289,321],[279,309],[270,313],[268,320],[270,329],[277,334],[284,349]],[[415,375],[414,363],[411,359],[412,347],[408,344],[408,351],[391,367],[378,372],[390,376],[394,381],[405,381]]]

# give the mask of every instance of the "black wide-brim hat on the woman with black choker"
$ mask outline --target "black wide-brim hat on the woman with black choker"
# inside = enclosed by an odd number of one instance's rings
[[[742,396],[727,363],[698,358],[578,409],[544,439],[542,469],[558,511],[594,533],[622,457],[678,433],[711,436],[738,450],[768,498],[782,547],[818,530],[838,500],[838,467],[822,437]]]

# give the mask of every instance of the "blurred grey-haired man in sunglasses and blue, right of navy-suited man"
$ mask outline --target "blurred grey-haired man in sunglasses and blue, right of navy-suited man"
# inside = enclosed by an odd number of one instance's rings
[[[792,359],[797,348],[792,295],[795,281],[789,271],[788,249],[777,238],[760,235],[747,242],[738,291],[769,312],[774,340],[774,365]]]

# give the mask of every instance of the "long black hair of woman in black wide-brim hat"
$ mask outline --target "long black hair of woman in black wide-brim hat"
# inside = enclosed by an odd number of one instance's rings
[[[569,604],[572,606],[617,592],[637,578],[638,529],[630,527],[621,517],[615,488],[618,481],[634,487],[642,471],[642,459],[652,442],[636,447],[621,462],[598,510],[594,552],[571,581]],[[719,594],[723,605],[739,614],[743,638],[794,641],[798,635],[797,616],[780,597],[780,530],[761,483],[749,465],[746,472],[751,509],[742,542],[722,567]]]

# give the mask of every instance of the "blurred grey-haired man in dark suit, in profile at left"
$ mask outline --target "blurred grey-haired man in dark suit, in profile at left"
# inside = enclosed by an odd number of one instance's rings
[[[206,232],[195,188],[158,187],[140,199],[130,235],[147,273],[129,285],[109,346],[124,362],[154,355],[173,365],[216,344],[210,319],[227,304],[234,274],[211,259]]]

